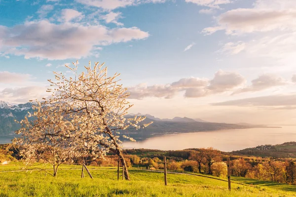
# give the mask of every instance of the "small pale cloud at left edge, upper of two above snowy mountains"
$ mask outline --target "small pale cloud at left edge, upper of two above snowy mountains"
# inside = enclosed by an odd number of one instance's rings
[[[8,71],[0,72],[0,83],[22,83],[31,79],[29,74],[10,73]]]

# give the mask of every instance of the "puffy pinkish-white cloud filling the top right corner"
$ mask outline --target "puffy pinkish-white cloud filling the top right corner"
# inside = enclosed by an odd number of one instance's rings
[[[296,1],[257,0],[253,8],[237,8],[217,17],[217,26],[205,28],[212,34],[225,30],[226,34],[296,30]],[[288,6],[291,5],[291,6]]]

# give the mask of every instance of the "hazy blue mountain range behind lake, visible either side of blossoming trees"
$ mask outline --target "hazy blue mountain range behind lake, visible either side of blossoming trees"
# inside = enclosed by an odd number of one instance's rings
[[[0,136],[12,136],[14,131],[19,129],[19,124],[15,120],[20,121],[28,112],[33,113],[32,103],[26,104],[10,104],[7,102],[0,101]],[[146,116],[147,118],[143,123],[148,123],[153,121],[153,124],[146,128],[141,128],[138,130],[127,130],[122,131],[124,134],[129,135],[137,140],[144,140],[149,137],[165,134],[175,134],[175,133],[188,133],[188,132],[198,132],[198,131],[213,131],[221,129],[242,129],[242,128],[254,128],[254,127],[266,127],[262,125],[252,125],[252,124],[228,124],[228,123],[217,123],[208,122],[203,119],[193,119],[193,118],[181,118],[175,117],[172,119],[155,118],[151,115],[142,114],[130,114],[127,117],[132,116]]]

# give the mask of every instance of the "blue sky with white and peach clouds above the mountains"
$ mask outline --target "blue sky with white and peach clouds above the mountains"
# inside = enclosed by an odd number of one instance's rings
[[[105,62],[130,113],[295,124],[296,0],[0,0],[0,100]]]

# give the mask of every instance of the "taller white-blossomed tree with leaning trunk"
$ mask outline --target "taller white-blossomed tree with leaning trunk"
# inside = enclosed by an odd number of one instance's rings
[[[63,103],[69,106],[67,114],[89,119],[90,123],[86,126],[92,133],[87,140],[92,142],[91,144],[96,144],[95,146],[115,153],[125,166],[125,180],[130,180],[121,151],[120,132],[146,127],[149,123],[139,125],[145,117],[125,118],[132,105],[126,101],[129,96],[127,89],[118,84],[119,74],[108,77],[107,67],[98,62],[93,68],[89,62],[89,65],[85,66],[86,72],[78,74],[78,62],[73,64],[74,67],[65,66],[74,73],[74,77],[68,78],[63,73],[55,73],[55,81],[49,80],[53,86],[52,89],[48,89],[52,92],[50,102]],[[127,135],[121,136],[134,141]]]

